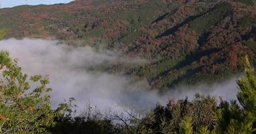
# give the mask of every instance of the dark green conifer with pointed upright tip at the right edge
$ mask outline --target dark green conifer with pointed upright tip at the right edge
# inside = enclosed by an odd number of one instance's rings
[[[242,109],[236,101],[222,102],[222,109],[217,111],[219,133],[246,134],[256,131],[256,76],[247,56],[243,65],[245,76],[237,81],[240,89],[237,98]]]

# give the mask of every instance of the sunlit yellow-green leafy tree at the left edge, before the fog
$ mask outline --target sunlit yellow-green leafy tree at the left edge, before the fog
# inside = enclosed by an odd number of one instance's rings
[[[2,38],[5,31],[0,31]],[[47,133],[68,108],[51,109],[49,78],[28,76],[7,52],[0,51],[0,133]],[[31,88],[30,83],[37,85]]]

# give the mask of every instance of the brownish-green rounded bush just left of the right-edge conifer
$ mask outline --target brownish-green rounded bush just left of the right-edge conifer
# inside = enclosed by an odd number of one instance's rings
[[[214,97],[196,94],[193,101],[170,100],[166,107],[158,105],[143,119],[143,125],[152,133],[193,133],[201,126],[214,131],[217,109]],[[202,130],[201,130],[202,131]]]

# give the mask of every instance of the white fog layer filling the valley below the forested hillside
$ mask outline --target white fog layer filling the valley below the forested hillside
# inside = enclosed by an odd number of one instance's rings
[[[88,103],[102,111],[118,110],[122,107],[151,108],[157,102],[163,105],[170,98],[193,98],[195,92],[211,94],[225,99],[235,99],[236,78],[231,78],[212,86],[201,84],[197,87],[170,89],[163,95],[149,90],[147,82],[131,83],[128,76],[117,76],[106,72],[91,71],[100,64],[131,63],[146,64],[141,58],[120,58],[120,55],[106,50],[94,50],[89,46],[74,48],[60,44],[56,40],[2,40],[0,49],[7,50],[11,58],[18,59],[22,70],[28,75],[49,76],[53,107],[65,98],[74,97],[79,110],[86,109]]]

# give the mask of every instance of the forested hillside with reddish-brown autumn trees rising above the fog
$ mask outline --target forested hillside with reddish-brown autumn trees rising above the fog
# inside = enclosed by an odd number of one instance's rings
[[[166,90],[232,76],[246,54],[256,65],[255,9],[254,0],[77,0],[1,9],[0,27],[5,38],[55,38],[146,58],[92,69]]]

